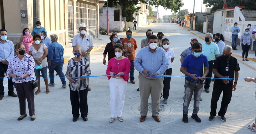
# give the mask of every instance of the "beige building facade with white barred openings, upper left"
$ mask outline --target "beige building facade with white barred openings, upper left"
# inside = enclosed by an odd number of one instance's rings
[[[0,0],[0,29],[7,30],[8,40],[20,41],[26,27],[32,32],[41,21],[47,36],[55,33],[64,47],[79,33],[76,26],[86,24],[86,34],[99,36],[99,9],[107,0]]]

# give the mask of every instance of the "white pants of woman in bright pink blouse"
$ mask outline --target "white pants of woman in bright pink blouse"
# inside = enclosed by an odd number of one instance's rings
[[[122,116],[122,111],[124,108],[124,95],[126,90],[127,82],[124,81],[123,78],[116,79],[110,78],[109,79],[109,90],[110,90],[110,113],[111,117],[115,117],[116,113],[116,101],[118,99],[117,105],[117,116]]]

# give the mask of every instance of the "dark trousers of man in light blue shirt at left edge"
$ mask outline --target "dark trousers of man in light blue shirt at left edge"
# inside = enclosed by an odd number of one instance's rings
[[[0,63],[0,95],[4,95],[4,73],[6,73],[8,65]],[[6,74],[7,75],[7,74]],[[8,94],[13,93],[12,77],[8,78]]]

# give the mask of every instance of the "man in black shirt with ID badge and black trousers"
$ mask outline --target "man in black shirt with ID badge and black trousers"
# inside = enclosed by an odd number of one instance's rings
[[[213,121],[216,116],[217,102],[220,98],[220,94],[223,91],[223,97],[221,101],[220,111],[218,117],[222,121],[226,121],[225,114],[227,112],[228,104],[232,97],[232,91],[236,90],[238,71],[240,70],[237,59],[232,54],[232,48],[225,46],[223,49],[223,55],[216,58],[213,65],[213,74],[216,79],[213,84],[212,100],[211,100],[211,112],[209,120]],[[235,80],[233,78],[235,77]],[[218,78],[230,78],[218,79]],[[233,84],[233,81],[234,84]]]

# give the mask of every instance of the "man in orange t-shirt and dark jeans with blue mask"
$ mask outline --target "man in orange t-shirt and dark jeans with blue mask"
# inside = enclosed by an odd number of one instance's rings
[[[122,41],[122,44],[124,46],[124,50],[126,51],[126,54],[129,58],[129,60],[131,61],[131,71],[130,71],[130,81],[132,84],[135,84],[134,81],[134,59],[135,59],[135,50],[138,48],[137,47],[137,41],[132,38],[132,31],[128,30],[126,31],[126,37],[124,38]]]

